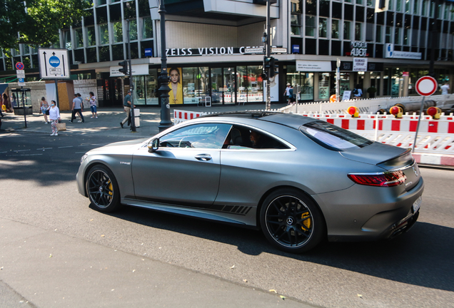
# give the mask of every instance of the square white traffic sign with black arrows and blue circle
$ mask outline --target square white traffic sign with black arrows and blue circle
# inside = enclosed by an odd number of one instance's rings
[[[38,56],[41,79],[69,79],[68,49],[39,48]]]

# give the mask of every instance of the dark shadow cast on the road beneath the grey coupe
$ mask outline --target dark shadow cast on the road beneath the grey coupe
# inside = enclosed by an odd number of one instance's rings
[[[454,291],[454,229],[416,222],[393,240],[323,242],[310,252],[293,255],[271,247],[258,230],[183,217],[138,207],[108,215],[147,227],[178,232],[238,247],[246,255],[263,252],[336,267],[420,287]]]

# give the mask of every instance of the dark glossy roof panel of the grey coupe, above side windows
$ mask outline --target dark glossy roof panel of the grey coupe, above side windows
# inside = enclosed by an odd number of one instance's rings
[[[266,122],[286,125],[288,127],[295,129],[300,128],[300,126],[305,123],[316,120],[314,118],[309,118],[306,116],[276,111],[229,111],[223,113],[211,113],[209,115],[203,115],[199,118],[210,117],[249,118],[254,120],[263,120]]]

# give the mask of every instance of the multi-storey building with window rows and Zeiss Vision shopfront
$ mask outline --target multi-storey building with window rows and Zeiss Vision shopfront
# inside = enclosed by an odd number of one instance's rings
[[[263,53],[253,49],[263,46],[266,1],[165,4],[171,104],[191,105],[206,97],[213,104],[266,100]],[[61,29],[55,47],[69,49],[71,78],[96,80],[101,106],[121,106],[128,89],[128,78],[118,71],[118,62],[129,56],[128,37],[136,104],[158,105],[158,5],[158,0],[94,0],[88,17]],[[337,59],[340,96],[356,85],[365,97],[415,95],[414,84],[428,74],[432,56],[438,82],[451,83],[454,2],[390,0],[388,6],[375,12],[373,0],[271,0],[271,44],[287,51],[273,54],[278,74],[270,81],[271,101],[285,101],[287,83],[301,87],[300,101],[327,101],[336,93]],[[20,61],[26,81],[38,81],[37,52],[37,46],[22,45],[11,58],[2,55],[0,78],[14,81],[14,63]]]

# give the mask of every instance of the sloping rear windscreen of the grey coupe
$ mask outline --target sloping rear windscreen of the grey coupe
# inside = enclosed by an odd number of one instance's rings
[[[301,125],[300,130],[316,143],[331,150],[363,148],[373,143],[373,141],[352,133],[350,130],[345,130],[321,120]]]

